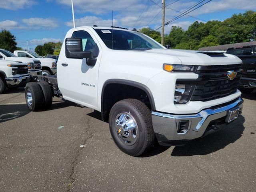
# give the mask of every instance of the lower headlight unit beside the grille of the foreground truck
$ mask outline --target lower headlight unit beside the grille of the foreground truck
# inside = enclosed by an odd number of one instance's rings
[[[186,104],[190,101],[195,86],[186,84],[176,84],[174,93],[174,104]]]

